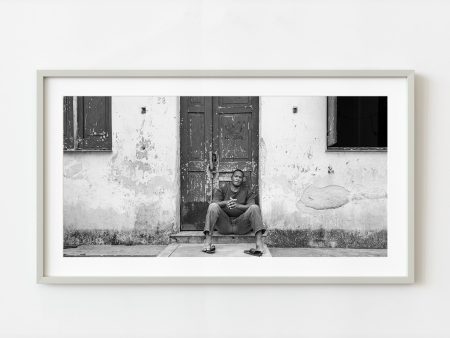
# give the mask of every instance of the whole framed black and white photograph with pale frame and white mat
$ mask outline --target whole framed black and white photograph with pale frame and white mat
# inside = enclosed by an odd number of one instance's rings
[[[414,72],[37,72],[39,283],[413,283]]]

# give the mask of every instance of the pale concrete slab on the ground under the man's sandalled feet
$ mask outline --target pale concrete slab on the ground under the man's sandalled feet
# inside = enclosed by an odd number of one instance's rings
[[[203,244],[172,243],[162,250],[158,257],[246,257],[260,258],[244,253],[244,250],[254,248],[251,243],[214,244],[216,252],[207,254],[202,252]],[[261,257],[272,257],[269,248],[264,245],[264,253]]]

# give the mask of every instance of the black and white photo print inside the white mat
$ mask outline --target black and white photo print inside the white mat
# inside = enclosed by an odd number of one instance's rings
[[[388,96],[61,101],[64,257],[388,256]]]

